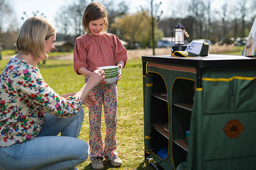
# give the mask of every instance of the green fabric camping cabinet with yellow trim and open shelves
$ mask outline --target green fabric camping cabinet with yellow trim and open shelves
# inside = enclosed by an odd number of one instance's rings
[[[160,55],[142,61],[145,157],[165,170],[256,169],[255,58]]]

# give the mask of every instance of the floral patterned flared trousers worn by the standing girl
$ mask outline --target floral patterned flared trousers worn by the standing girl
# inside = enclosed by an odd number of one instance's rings
[[[85,78],[87,82],[87,77]],[[89,108],[90,121],[90,160],[96,157],[105,157],[111,160],[117,157],[116,152],[116,122],[117,122],[117,87],[116,83],[97,85],[91,93],[96,99],[96,105]],[[101,134],[102,105],[104,108],[104,119],[106,124],[106,134],[104,149]]]

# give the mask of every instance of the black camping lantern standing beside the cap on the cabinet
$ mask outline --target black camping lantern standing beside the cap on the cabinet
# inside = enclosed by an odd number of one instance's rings
[[[187,40],[184,40],[183,33],[188,37],[185,27],[179,23],[172,31],[172,53],[186,50],[187,46],[185,44],[187,44]],[[173,34],[175,34],[175,37]]]

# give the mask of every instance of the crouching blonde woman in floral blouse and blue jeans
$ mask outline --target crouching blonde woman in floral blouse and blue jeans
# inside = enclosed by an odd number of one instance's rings
[[[0,170],[76,169],[88,157],[88,144],[77,139],[82,104],[95,104],[89,93],[104,72],[96,69],[79,92],[59,96],[37,67],[55,49],[55,38],[45,18],[27,19],[17,35],[19,53],[0,75]]]

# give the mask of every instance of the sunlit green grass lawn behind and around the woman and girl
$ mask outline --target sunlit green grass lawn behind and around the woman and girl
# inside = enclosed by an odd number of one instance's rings
[[[240,55],[241,51],[232,53]],[[0,60],[0,72],[8,60]],[[60,95],[79,91],[84,84],[84,77],[73,70],[72,60],[48,59],[46,64],[38,64],[44,80]],[[144,129],[143,129],[143,82],[141,58],[129,59],[122,69],[122,79],[118,82],[117,110],[117,152],[123,164],[112,167],[103,161],[104,170],[154,170],[144,161]],[[89,121],[88,109],[84,106],[85,118],[79,139],[88,142]],[[104,117],[104,116],[102,116]],[[105,136],[105,123],[102,120],[102,136]],[[92,170],[91,161],[87,159],[77,166],[79,170]]]

